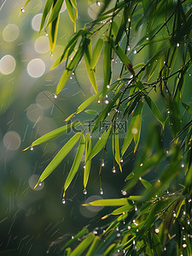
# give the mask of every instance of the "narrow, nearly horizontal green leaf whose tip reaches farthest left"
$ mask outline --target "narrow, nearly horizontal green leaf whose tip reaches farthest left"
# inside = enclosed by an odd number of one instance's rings
[[[28,148],[32,147],[32,146],[37,146],[39,144],[42,144],[44,142],[47,142],[49,140],[52,140],[58,136],[61,136],[62,134],[67,134],[67,132],[73,128],[74,126],[79,126],[81,125],[81,122],[71,122],[65,126],[62,126],[61,128],[57,128],[51,132],[49,132],[48,134],[44,134],[43,136],[41,136],[40,138],[38,138],[37,140],[34,140],[32,142],[31,146],[26,147],[26,149],[24,149],[23,151],[26,151]]]

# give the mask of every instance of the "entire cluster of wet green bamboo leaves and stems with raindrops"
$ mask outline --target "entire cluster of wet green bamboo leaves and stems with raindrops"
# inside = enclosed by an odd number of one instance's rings
[[[47,0],[44,6],[40,31],[49,26],[51,51],[54,50],[62,3],[63,0]],[[77,3],[67,0],[66,4],[76,31]],[[142,182],[145,188],[143,195],[90,202],[90,205],[95,206],[116,206],[117,208],[109,215],[117,217],[110,221],[104,232],[102,229],[98,229],[97,234],[96,232],[89,233],[88,229],[81,230],[62,247],[66,255],[80,255],[85,250],[86,255],[110,255],[115,252],[127,255],[192,254],[190,242],[192,236],[190,223],[192,110],[189,104],[182,101],[183,89],[186,86],[185,77],[191,67],[191,14],[191,3],[185,0],[127,0],[114,1],[114,4],[111,1],[103,1],[98,18],[73,34],[61,57],[53,64],[52,68],[56,68],[66,61],[66,68],[56,87],[55,97],[61,92],[82,59],[84,59],[90,84],[96,92],[86,99],[75,113],[68,116],[66,121],[84,111],[96,99],[105,101],[106,94],[110,95],[111,99],[106,101],[103,110],[96,113],[86,128],[74,134],[62,146],[40,176],[38,184],[55,170],[68,152],[79,142],[78,152],[64,184],[63,197],[79,170],[84,152],[85,189],[89,180],[91,159],[101,151],[103,158],[110,137],[113,141],[113,158],[119,165],[119,170],[122,171],[121,158],[125,155],[132,140],[135,143],[134,152],[137,152],[144,104],[148,104],[154,118],[160,123],[160,128],[156,124],[149,128],[148,136],[143,144],[142,157],[138,158],[134,170],[126,177],[128,182],[124,188],[125,194],[131,194],[131,189],[138,182]],[[48,21],[45,25],[46,19]],[[138,32],[141,27],[146,29],[148,36],[146,38],[144,34],[139,39],[134,53],[143,51],[144,48],[153,49],[153,51],[149,52],[144,63],[137,63],[133,67],[128,53],[133,33]],[[102,56],[103,87],[98,92],[96,63]],[[118,80],[112,82],[113,60],[116,57],[122,63],[122,68],[119,70]],[[163,114],[154,103],[151,92],[159,93],[165,101]],[[185,122],[180,115],[181,107],[188,112]],[[95,113],[95,110],[85,111]],[[129,126],[121,146],[119,128],[114,123],[120,122],[123,118],[126,118]],[[91,134],[106,120],[109,122],[108,127],[96,145],[92,147]],[[91,133],[88,132],[90,124],[93,125]],[[81,126],[81,123],[72,122],[49,134],[44,134],[32,142],[31,147],[66,134],[69,128],[77,125]],[[172,142],[168,152],[160,143],[165,128],[170,128],[172,131]],[[166,167],[162,168],[162,166]],[[157,177],[156,182],[151,184],[143,179],[143,176],[154,169],[160,169],[160,176]],[[100,172],[101,170],[102,162]],[[169,185],[181,174],[183,175],[181,189],[166,193]],[[72,252],[71,247],[68,246],[79,238],[82,241]]]

